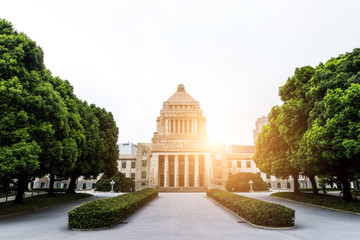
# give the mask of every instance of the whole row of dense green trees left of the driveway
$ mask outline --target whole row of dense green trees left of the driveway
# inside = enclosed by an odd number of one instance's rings
[[[51,195],[56,178],[116,171],[112,114],[79,100],[43,58],[34,41],[0,19],[0,179],[17,180],[17,202],[33,177],[49,174]]]

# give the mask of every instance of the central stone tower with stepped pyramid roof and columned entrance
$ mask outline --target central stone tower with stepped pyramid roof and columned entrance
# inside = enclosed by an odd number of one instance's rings
[[[138,144],[137,189],[151,186],[163,191],[198,191],[216,179],[221,181],[225,145],[209,144],[200,104],[183,84],[163,103],[156,122],[152,142]],[[214,173],[216,166],[218,173]]]

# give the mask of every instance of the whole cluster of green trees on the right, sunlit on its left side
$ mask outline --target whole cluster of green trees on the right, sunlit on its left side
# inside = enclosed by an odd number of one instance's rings
[[[284,104],[272,109],[258,136],[254,160],[260,169],[274,171],[286,159],[284,171],[290,164],[310,176],[313,189],[315,175],[336,176],[350,200],[349,180],[359,177],[359,86],[360,49],[315,69],[296,69],[279,90]]]

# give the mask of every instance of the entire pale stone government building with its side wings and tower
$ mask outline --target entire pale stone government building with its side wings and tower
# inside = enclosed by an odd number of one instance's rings
[[[135,180],[137,190],[203,191],[223,188],[238,172],[259,174],[272,189],[291,189],[293,179],[277,179],[261,173],[252,161],[254,146],[210,144],[200,104],[180,84],[163,103],[151,143],[120,145],[119,171]],[[254,137],[267,123],[258,118]],[[307,180],[304,184],[308,184]],[[301,182],[300,182],[301,184]],[[302,185],[306,187],[307,185]],[[309,185],[311,186],[311,185]]]

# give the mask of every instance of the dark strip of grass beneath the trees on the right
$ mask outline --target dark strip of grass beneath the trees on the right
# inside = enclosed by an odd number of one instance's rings
[[[292,192],[277,192],[271,195],[298,201],[298,202],[311,203],[323,207],[360,213],[360,201],[358,200],[346,202],[341,197],[335,197],[335,196],[329,196],[323,194],[314,196],[312,193],[294,194]]]

